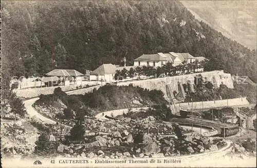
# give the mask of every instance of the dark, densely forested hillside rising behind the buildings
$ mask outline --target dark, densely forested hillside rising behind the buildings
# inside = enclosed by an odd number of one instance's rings
[[[256,51],[199,22],[178,1],[3,1],[1,10],[2,82],[57,68],[84,73],[124,56],[132,65],[143,53],[172,51],[205,56],[210,70],[256,82]]]

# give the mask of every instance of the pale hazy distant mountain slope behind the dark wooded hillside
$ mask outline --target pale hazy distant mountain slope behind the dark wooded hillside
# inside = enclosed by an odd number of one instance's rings
[[[181,1],[195,16],[223,35],[256,50],[256,1]]]

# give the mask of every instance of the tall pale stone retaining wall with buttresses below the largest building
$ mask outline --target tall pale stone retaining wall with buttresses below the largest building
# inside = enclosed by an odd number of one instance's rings
[[[219,87],[219,85],[224,84],[228,88],[234,88],[231,75],[224,73],[224,71],[210,71],[210,72],[201,72],[201,73],[187,74],[187,75],[181,75],[181,76],[137,80],[137,81],[131,81],[131,82],[118,83],[117,85],[124,86],[132,83],[135,86],[139,86],[149,90],[154,90],[154,89],[161,90],[164,93],[165,98],[171,99],[173,97],[172,94],[174,91],[183,92],[182,91],[183,87],[181,87],[180,83],[182,84],[188,83],[189,81],[190,83],[193,83],[194,77],[198,74],[201,74],[201,76],[203,76],[203,79],[205,81],[210,81],[211,83],[213,83],[214,87],[215,86]]]

